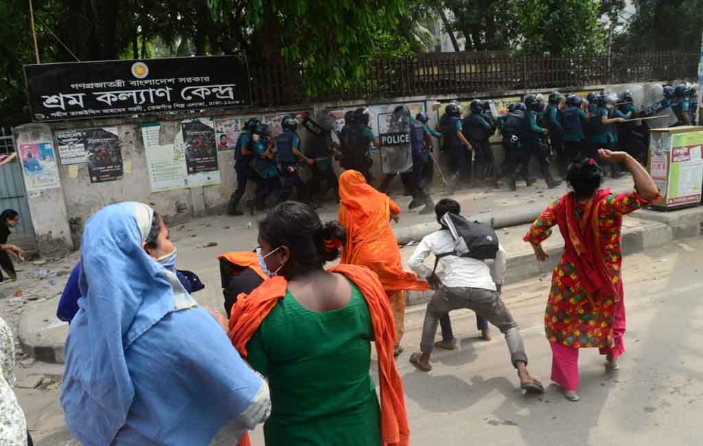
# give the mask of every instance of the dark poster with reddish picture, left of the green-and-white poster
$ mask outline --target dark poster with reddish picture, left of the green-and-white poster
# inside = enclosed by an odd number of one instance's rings
[[[91,183],[103,183],[122,178],[122,150],[117,127],[98,127],[84,131]]]

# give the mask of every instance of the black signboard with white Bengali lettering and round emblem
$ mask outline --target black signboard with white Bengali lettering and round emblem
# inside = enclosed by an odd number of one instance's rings
[[[34,121],[251,105],[234,55],[25,65]]]

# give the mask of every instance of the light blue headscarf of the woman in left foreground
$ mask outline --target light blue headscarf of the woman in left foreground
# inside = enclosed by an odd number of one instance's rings
[[[66,340],[61,402],[70,430],[89,432],[91,444],[112,442],[134,400],[125,350],[169,313],[197,306],[175,271],[143,249],[153,216],[145,204],[112,204],[83,232],[84,297]]]

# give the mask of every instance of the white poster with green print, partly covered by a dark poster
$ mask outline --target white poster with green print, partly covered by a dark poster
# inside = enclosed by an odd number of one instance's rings
[[[219,170],[188,173],[182,124],[169,129],[160,122],[148,122],[142,124],[141,136],[152,192],[220,183]]]

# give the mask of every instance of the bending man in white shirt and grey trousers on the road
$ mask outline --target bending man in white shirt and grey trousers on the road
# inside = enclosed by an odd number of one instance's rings
[[[439,318],[451,310],[468,308],[505,334],[505,342],[508,343],[508,350],[510,350],[510,362],[517,369],[520,387],[529,392],[541,393],[544,391],[542,384],[532,378],[527,371],[527,354],[517,322],[500,297],[505,278],[505,251],[502,247],[498,248],[493,277],[491,277],[491,269],[484,261],[459,256],[455,251],[456,241],[443,219],[451,218],[448,214],[459,216],[460,210],[458,202],[453,199],[441,199],[435,207],[435,212],[437,221],[443,225],[443,229],[424,237],[408,261],[410,268],[436,289],[425,312],[420,341],[421,353],[413,353],[410,362],[419,370],[429,372],[432,369],[430,354],[434,347],[434,335],[437,333]],[[430,254],[438,256],[437,263],[441,264],[444,270],[444,278],[441,280],[434,271],[425,266],[425,258]]]

